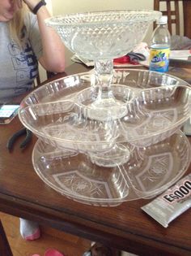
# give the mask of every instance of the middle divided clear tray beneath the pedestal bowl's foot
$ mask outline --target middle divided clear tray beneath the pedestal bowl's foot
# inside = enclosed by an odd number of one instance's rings
[[[155,144],[189,119],[190,87],[177,77],[116,70],[112,93],[122,102],[118,119],[115,107],[111,112],[88,105],[96,97],[94,80],[95,75],[86,72],[41,86],[23,99],[19,119],[46,143],[85,154],[102,154],[123,142],[142,147]],[[100,113],[107,119],[102,120]]]

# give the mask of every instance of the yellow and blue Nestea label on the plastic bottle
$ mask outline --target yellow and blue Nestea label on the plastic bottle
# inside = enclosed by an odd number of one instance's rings
[[[168,72],[169,54],[169,48],[151,48],[149,69],[156,72]]]

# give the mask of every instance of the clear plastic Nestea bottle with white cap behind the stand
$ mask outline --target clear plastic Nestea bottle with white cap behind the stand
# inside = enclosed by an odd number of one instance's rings
[[[167,28],[168,16],[161,16],[157,21],[150,44],[149,70],[168,72],[171,35]]]

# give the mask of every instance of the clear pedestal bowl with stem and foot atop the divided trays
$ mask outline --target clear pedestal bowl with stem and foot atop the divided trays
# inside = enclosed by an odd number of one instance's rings
[[[149,10],[97,11],[55,16],[45,21],[71,51],[95,62],[95,80],[87,89],[91,97],[82,102],[91,108],[89,118],[104,121],[111,113],[113,119],[126,115],[124,102],[111,89],[112,59],[133,50],[160,15],[159,11]],[[100,115],[96,115],[96,110]]]

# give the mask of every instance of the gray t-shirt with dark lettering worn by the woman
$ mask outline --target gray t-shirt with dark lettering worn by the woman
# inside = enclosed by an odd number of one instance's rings
[[[0,22],[0,103],[28,92],[38,74],[42,44],[36,15],[24,20],[22,49],[9,36],[8,24]]]

